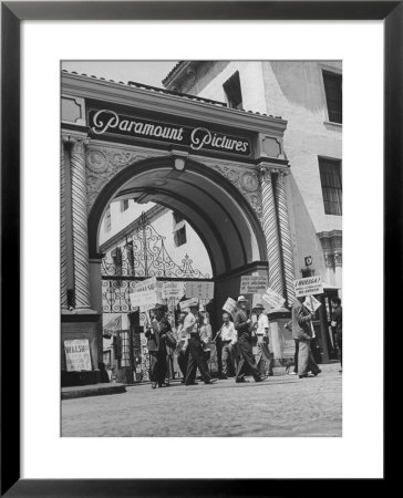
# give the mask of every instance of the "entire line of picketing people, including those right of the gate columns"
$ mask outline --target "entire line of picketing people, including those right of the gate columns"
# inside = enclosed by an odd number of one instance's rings
[[[190,304],[188,313],[182,312],[178,324],[170,317],[165,304],[156,304],[152,310],[153,320],[147,326],[145,336],[148,340],[151,357],[152,387],[166,387],[169,380],[175,376],[174,357],[182,372],[182,382],[185,385],[197,385],[196,374],[205,384],[213,384],[208,369],[211,343],[220,341],[221,376],[228,378],[229,365],[235,371],[237,383],[248,382],[245,376],[251,375],[256,382],[261,382],[273,375],[273,355],[269,350],[269,320],[264,313],[264,305],[256,304],[252,312],[257,320],[254,322],[247,312],[248,300],[239,295],[236,310],[229,314],[223,313],[223,325],[216,336],[211,338],[211,326],[207,312],[199,312],[196,303]],[[338,346],[341,352],[342,344],[342,310],[339,298],[332,299],[331,326],[337,331]],[[310,342],[312,340],[312,325],[314,312],[298,298],[292,308],[289,324],[296,342],[294,372],[300,378],[317,376],[321,371],[314,362]],[[255,339],[252,339],[255,338]],[[257,341],[257,354],[252,354],[252,343]],[[264,369],[262,369],[264,365]],[[265,371],[261,374],[261,370]]]

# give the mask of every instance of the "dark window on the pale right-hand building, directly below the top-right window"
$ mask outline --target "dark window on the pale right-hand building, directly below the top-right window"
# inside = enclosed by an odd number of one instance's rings
[[[319,157],[324,212],[342,215],[341,160]]]

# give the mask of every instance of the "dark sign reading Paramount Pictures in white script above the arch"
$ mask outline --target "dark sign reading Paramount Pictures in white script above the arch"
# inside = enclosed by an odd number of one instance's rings
[[[136,116],[117,114],[107,108],[90,110],[89,125],[95,135],[120,135],[148,141],[184,145],[193,151],[217,151],[241,156],[250,155],[247,138],[216,133],[208,127],[187,127],[141,120]]]

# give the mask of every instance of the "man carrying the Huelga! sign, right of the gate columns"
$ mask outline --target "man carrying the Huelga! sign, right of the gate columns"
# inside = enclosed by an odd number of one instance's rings
[[[303,304],[304,298],[297,298],[292,304],[292,338],[299,340],[298,353],[298,376],[299,378],[312,376],[311,371],[317,376],[321,370],[317,365],[311,352],[310,342],[312,339],[311,321],[314,313],[311,313]]]

